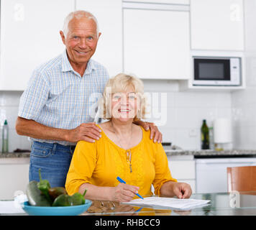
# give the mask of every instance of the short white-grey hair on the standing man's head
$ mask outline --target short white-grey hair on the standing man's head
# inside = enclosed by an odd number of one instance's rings
[[[94,15],[91,14],[90,12],[86,12],[83,10],[77,10],[75,12],[71,12],[70,14],[68,14],[68,16],[65,17],[65,19],[64,19],[63,33],[64,33],[65,37],[67,37],[67,35],[68,35],[68,24],[74,17],[76,17],[76,19],[81,19],[82,17],[86,17],[87,19],[93,19],[93,21],[96,23],[97,37],[99,36],[99,24],[98,24],[96,17],[94,17]]]

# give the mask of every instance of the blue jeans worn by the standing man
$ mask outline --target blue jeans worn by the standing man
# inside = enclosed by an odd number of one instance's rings
[[[65,187],[70,161],[76,146],[33,142],[30,153],[29,181],[49,180],[51,187]]]

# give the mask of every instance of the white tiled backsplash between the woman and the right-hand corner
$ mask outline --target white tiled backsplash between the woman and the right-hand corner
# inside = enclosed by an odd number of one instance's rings
[[[164,142],[172,142],[183,149],[201,149],[201,124],[206,119],[212,126],[216,118],[231,118],[231,93],[209,91],[178,91],[174,80],[143,80],[146,92],[167,93],[167,122],[159,126]],[[159,96],[160,97],[160,96]],[[160,106],[152,110],[160,111]],[[152,114],[150,114],[152,115]],[[152,117],[149,121],[158,121]]]

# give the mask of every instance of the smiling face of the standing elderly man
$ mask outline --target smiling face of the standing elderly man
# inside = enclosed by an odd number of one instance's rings
[[[71,65],[86,64],[94,54],[99,40],[96,23],[93,19],[85,17],[73,18],[68,24],[68,35],[65,37],[63,32],[60,31],[60,36],[68,52]]]

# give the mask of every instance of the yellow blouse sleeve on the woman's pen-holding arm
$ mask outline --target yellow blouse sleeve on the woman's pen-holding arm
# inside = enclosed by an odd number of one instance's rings
[[[65,189],[69,195],[77,193],[83,183],[91,183],[91,175],[96,166],[96,144],[80,141],[73,153]]]

